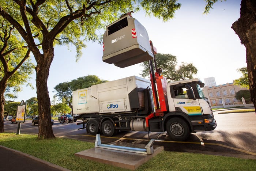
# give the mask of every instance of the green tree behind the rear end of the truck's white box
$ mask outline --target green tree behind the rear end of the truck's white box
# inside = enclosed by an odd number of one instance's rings
[[[106,80],[99,79],[96,75],[87,75],[85,77],[79,77],[77,79],[72,80],[71,82],[64,82],[56,85],[54,87],[54,90],[56,92],[56,95],[59,100],[65,99],[65,101],[68,103],[68,106],[72,110],[73,114],[73,105],[72,105],[72,91],[91,87],[96,84],[105,83]]]

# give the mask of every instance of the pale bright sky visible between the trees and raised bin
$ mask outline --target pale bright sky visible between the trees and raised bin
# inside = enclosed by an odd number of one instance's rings
[[[181,8],[175,18],[167,22],[153,16],[145,16],[143,11],[132,13],[147,30],[149,39],[158,53],[172,54],[181,62],[193,63],[197,68],[195,77],[215,77],[217,85],[232,83],[241,77],[238,68],[246,66],[246,53],[238,35],[231,28],[240,18],[241,0],[218,1],[210,14],[203,14],[206,2],[203,0],[178,0]],[[102,32],[103,34],[103,32]],[[119,68],[102,61],[102,45],[87,42],[83,55],[75,62],[75,48],[54,47],[54,59],[50,67],[48,91],[50,99],[56,94],[54,87],[66,81],[87,75],[96,75],[103,80],[116,80],[142,73],[140,64]],[[35,86],[35,72],[29,80]],[[23,86],[16,102],[36,97],[36,89]]]

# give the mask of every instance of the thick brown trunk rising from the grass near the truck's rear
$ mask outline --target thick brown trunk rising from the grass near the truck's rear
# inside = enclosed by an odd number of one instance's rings
[[[50,46],[48,46],[50,47]],[[44,48],[43,48],[44,49]],[[50,98],[47,87],[50,64],[53,60],[53,47],[48,49],[48,52],[35,57],[37,67],[35,68],[37,100],[38,100],[38,139],[55,138],[52,130],[51,114],[50,114]]]

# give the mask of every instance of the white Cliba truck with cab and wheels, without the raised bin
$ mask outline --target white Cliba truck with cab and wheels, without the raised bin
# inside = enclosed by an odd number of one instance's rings
[[[74,91],[74,114],[80,115],[93,135],[113,136],[118,130],[167,131],[173,140],[184,141],[191,132],[215,129],[199,79],[166,83],[161,78],[159,82],[165,85],[158,92],[163,95],[158,101],[160,111],[153,102],[151,82],[131,76]]]

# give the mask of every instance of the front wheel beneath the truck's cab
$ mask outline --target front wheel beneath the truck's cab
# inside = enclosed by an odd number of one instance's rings
[[[168,135],[176,141],[187,140],[190,134],[188,124],[181,118],[171,118],[166,123]]]

